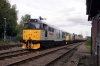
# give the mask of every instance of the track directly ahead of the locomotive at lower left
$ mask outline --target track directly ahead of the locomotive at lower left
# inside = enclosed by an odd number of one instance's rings
[[[14,61],[17,58],[23,57],[24,55],[32,54],[35,51],[28,51],[28,50],[17,50],[12,52],[0,53],[0,66],[7,66],[6,64],[9,62]],[[20,58],[19,58],[20,59]]]

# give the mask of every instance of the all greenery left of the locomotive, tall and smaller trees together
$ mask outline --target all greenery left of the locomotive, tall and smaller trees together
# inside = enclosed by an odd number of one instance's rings
[[[16,5],[11,6],[8,0],[0,0],[0,44],[4,44],[5,22],[6,36],[16,37],[18,41],[22,39],[23,24],[31,18],[31,16],[25,14],[21,17],[20,24],[18,24],[17,14],[18,10],[16,10]],[[5,40],[5,43],[8,43],[8,41]]]

